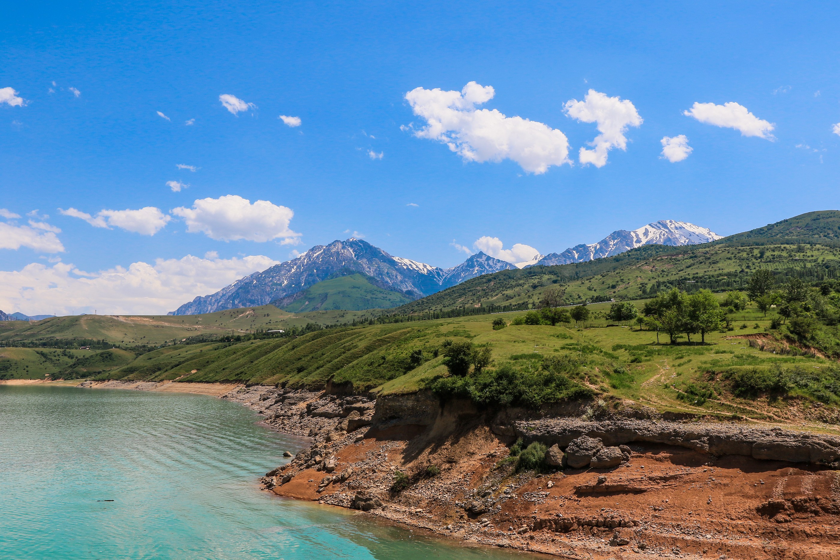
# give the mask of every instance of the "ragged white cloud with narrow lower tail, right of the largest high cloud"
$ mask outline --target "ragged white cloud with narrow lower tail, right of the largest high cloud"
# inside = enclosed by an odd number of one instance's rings
[[[642,124],[636,107],[627,99],[621,97],[606,97],[605,93],[590,90],[583,101],[572,99],[565,103],[566,114],[583,123],[597,123],[598,134],[589,145],[595,149],[580,149],[581,164],[592,164],[596,167],[606,165],[606,153],[613,149],[627,149],[627,138],[624,133],[627,127],[638,127]]]

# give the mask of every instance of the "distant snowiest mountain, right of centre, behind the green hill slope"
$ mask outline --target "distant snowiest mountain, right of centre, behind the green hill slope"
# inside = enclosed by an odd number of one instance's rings
[[[585,260],[612,257],[630,249],[643,245],[695,245],[709,243],[722,238],[709,228],[701,228],[689,222],[675,220],[659,220],[646,226],[627,231],[619,229],[610,233],[598,243],[580,244],[566,249],[563,253],[551,253],[538,259],[535,264],[550,266],[552,264],[580,263]],[[533,266],[531,264],[530,266]]]

